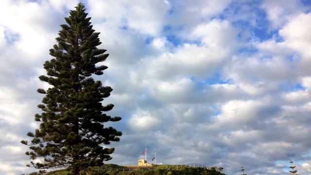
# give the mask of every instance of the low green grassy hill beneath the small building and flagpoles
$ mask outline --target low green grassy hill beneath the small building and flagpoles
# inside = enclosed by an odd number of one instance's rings
[[[45,175],[69,175],[67,170],[49,172]],[[36,175],[32,173],[29,175]],[[189,167],[185,165],[155,165],[151,168],[128,168],[116,164],[104,164],[100,167],[90,167],[80,175],[225,175],[223,173],[207,170],[200,167]]]

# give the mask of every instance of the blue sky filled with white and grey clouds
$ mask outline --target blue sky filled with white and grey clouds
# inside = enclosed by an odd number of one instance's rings
[[[109,53],[113,159],[224,167],[228,175],[311,175],[309,0],[84,0]],[[0,175],[25,165],[64,17],[78,0],[0,1]]]

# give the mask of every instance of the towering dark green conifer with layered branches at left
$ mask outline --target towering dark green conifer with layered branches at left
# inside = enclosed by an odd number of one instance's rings
[[[119,141],[120,131],[106,122],[117,122],[121,117],[111,117],[104,112],[114,105],[102,105],[104,98],[110,96],[112,88],[102,86],[91,75],[102,75],[106,66],[98,65],[108,54],[98,49],[101,44],[99,33],[92,29],[91,18],[87,18],[85,6],[78,3],[70,11],[67,24],[56,38],[57,45],[50,50],[54,58],[44,63],[46,75],[41,81],[52,85],[45,94],[43,104],[37,105],[42,113],[35,114],[40,126],[35,133],[29,132],[31,141],[21,143],[30,145],[26,155],[32,158],[29,165],[37,169],[69,168],[73,175],[89,166],[102,165],[110,160],[114,148],[105,144]]]

